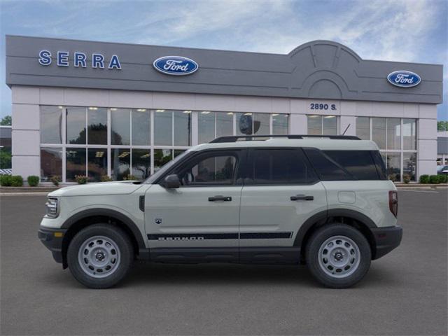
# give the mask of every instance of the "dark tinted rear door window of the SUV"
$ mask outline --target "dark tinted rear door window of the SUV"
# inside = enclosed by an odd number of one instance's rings
[[[300,149],[255,149],[247,183],[302,184],[317,180]]]

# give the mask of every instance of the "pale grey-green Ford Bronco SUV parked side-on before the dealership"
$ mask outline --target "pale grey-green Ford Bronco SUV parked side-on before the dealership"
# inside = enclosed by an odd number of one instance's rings
[[[144,182],[50,193],[38,237],[91,288],[118,283],[134,259],[306,263],[325,286],[343,288],[400,244],[397,209],[372,141],[222,137]]]

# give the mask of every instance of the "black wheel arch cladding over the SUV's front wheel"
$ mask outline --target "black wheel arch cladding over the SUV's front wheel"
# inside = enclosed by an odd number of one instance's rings
[[[146,249],[139,228],[129,217],[111,209],[87,209],[74,214],[62,225],[62,228],[67,230],[62,240],[62,266],[64,268],[67,267],[66,253],[71,239],[83,228],[97,223],[116,225],[123,229],[130,237],[136,255],[140,250]]]

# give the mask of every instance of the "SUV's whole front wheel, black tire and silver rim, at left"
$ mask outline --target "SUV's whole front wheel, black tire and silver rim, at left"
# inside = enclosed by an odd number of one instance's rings
[[[113,225],[94,224],[70,241],[67,263],[71,274],[90,288],[109,288],[121,281],[134,259],[126,232]]]

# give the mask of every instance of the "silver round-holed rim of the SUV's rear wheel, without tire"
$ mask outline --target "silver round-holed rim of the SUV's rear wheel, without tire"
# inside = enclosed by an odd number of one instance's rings
[[[319,266],[333,278],[345,278],[358,269],[358,245],[345,236],[333,236],[323,242],[318,252]]]

